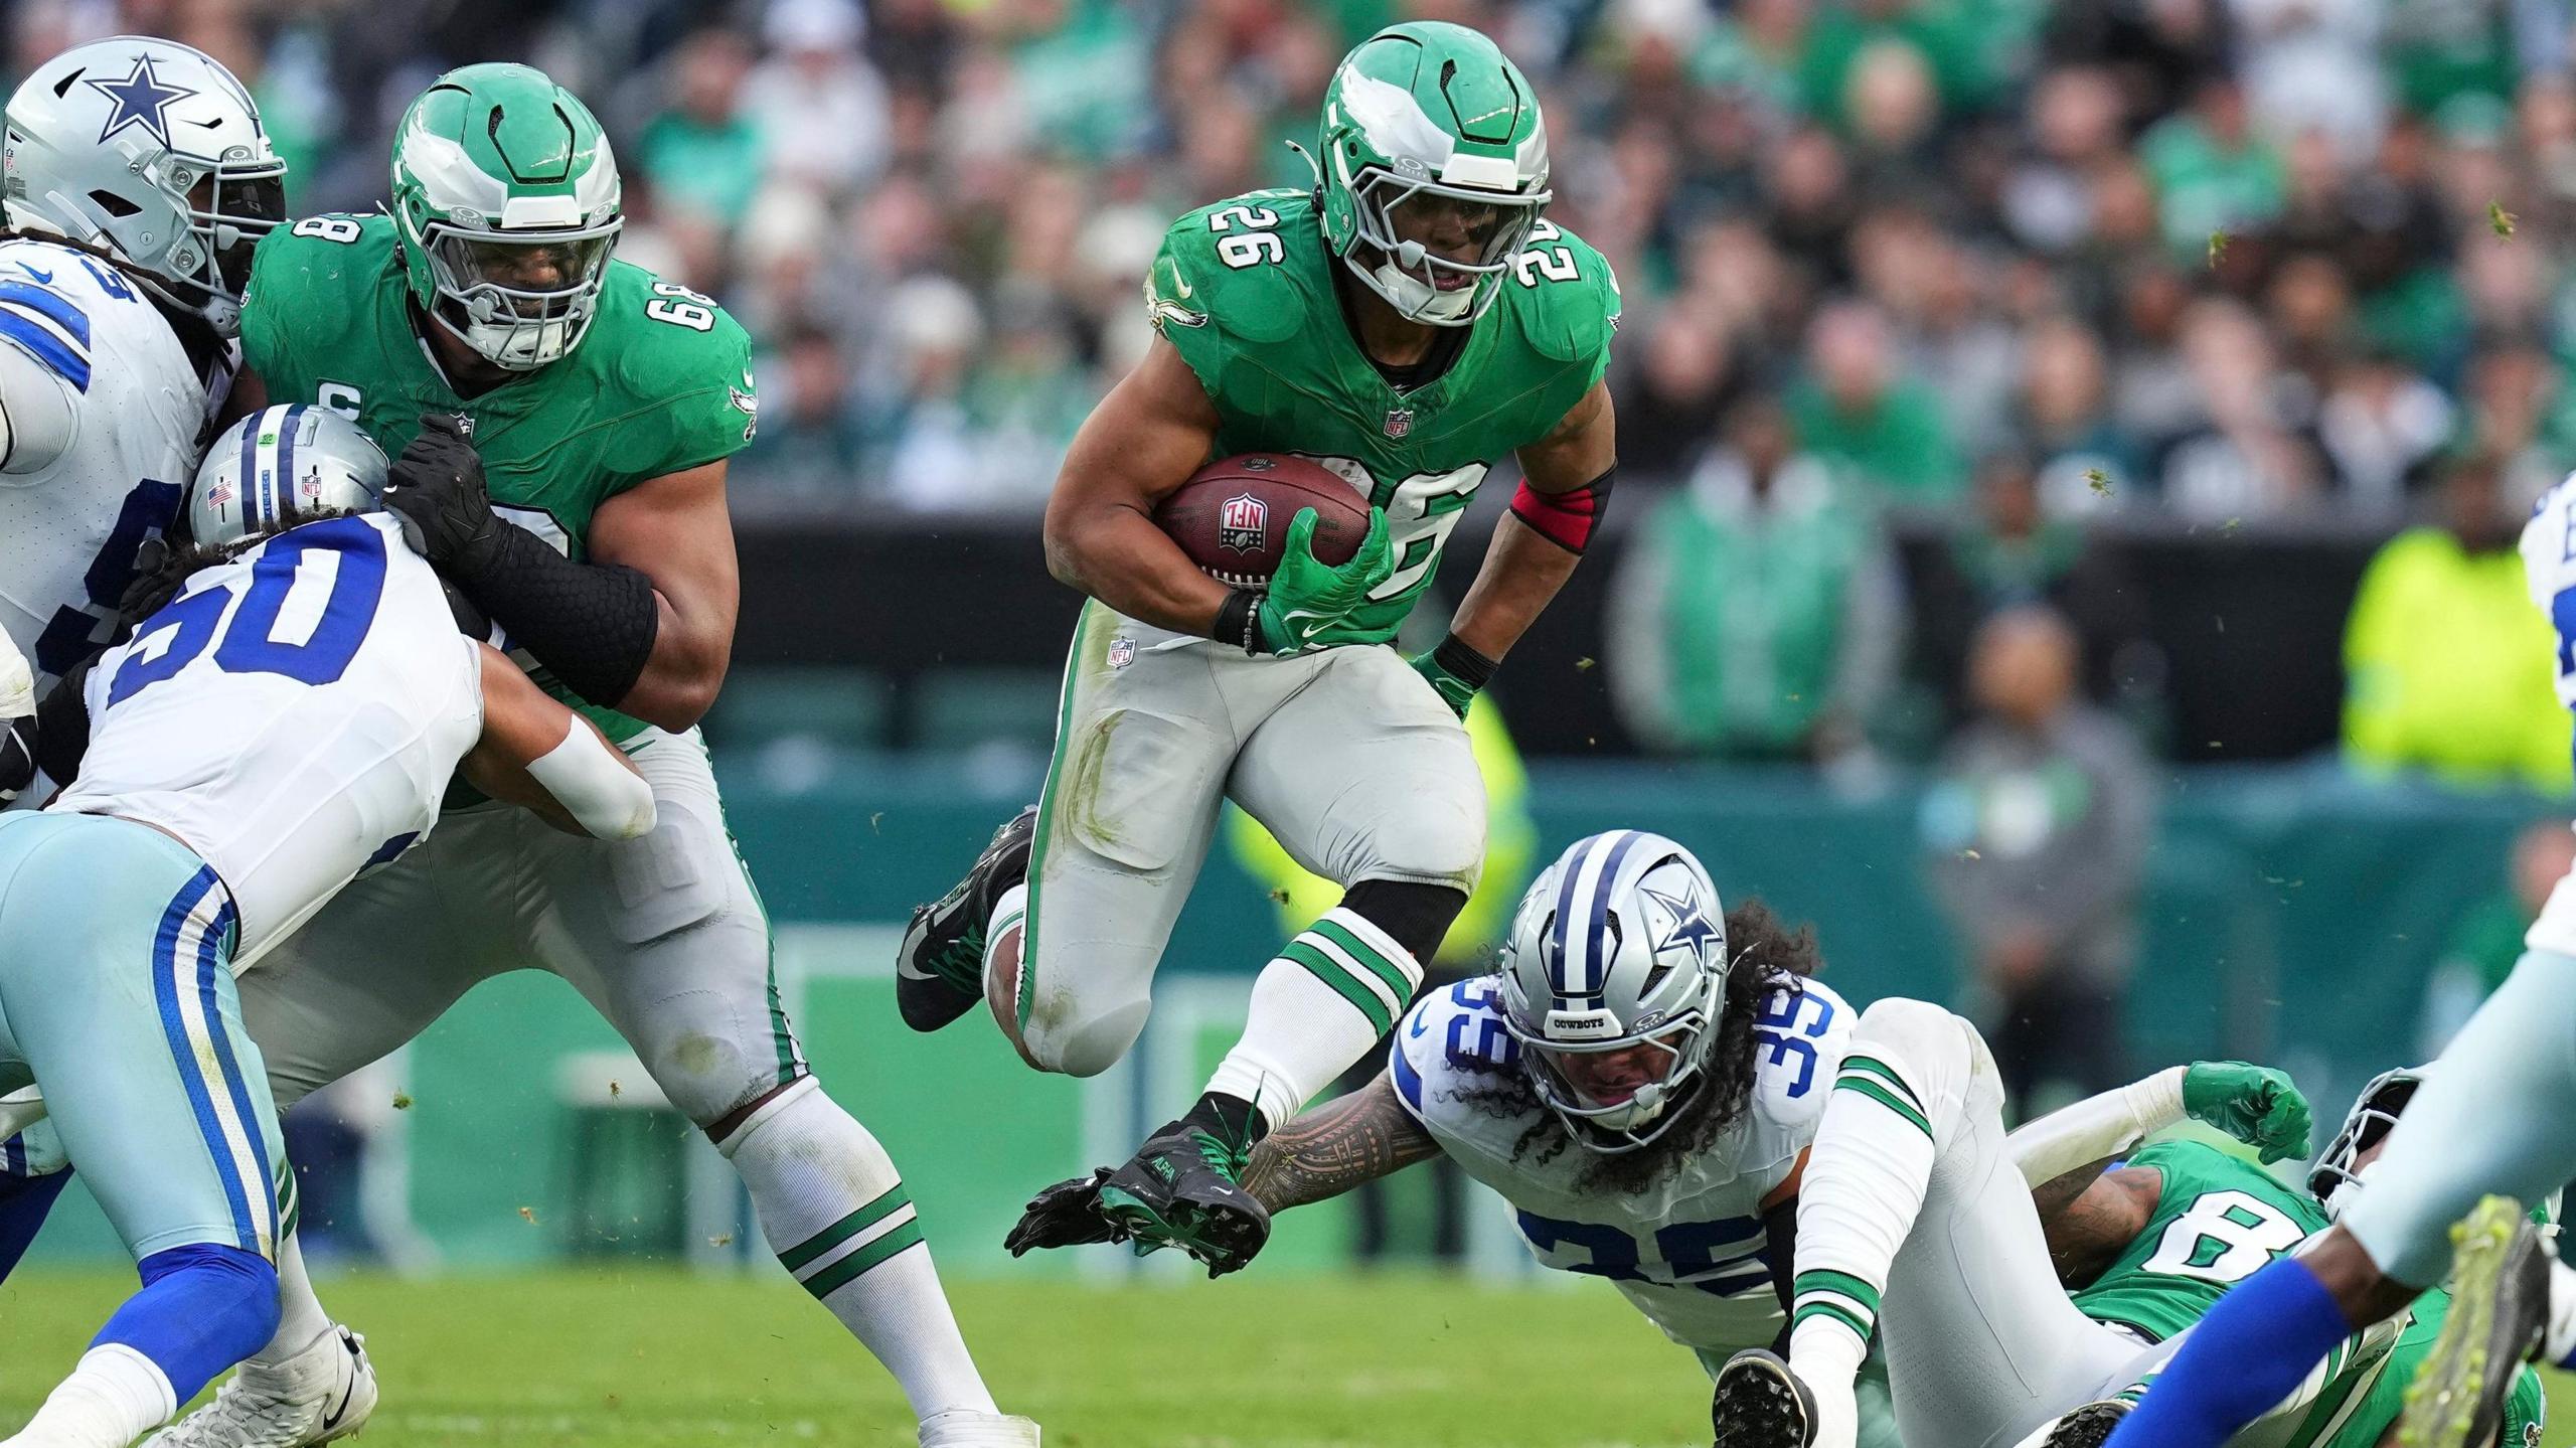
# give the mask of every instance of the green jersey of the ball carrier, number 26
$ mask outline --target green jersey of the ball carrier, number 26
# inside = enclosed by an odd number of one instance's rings
[[[1399,389],[1342,319],[1314,196],[1255,191],[1164,232],[1144,296],[1221,417],[1216,456],[1301,453],[1386,510],[1396,572],[1352,616],[1401,621],[1484,474],[1548,435],[1610,366],[1618,281],[1582,237],[1538,222],[1458,358]]]

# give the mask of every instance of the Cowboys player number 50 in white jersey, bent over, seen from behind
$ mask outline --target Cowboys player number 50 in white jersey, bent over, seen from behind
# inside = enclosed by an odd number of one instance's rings
[[[0,1087],[44,1092],[144,1283],[13,1448],[126,1448],[278,1324],[294,1193],[240,971],[420,843],[459,770],[582,835],[654,822],[626,755],[355,513],[384,456],[350,423],[237,428],[170,600],[44,701],[41,763],[72,783],[0,817]]]

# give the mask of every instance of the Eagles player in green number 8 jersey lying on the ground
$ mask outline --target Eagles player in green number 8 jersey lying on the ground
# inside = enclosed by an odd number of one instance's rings
[[[1976,1028],[1937,1005],[1880,1000],[1834,1074],[1798,1190],[1788,1363],[1762,1350],[1728,1360],[1718,1440],[1852,1448],[1855,1376],[1875,1335],[1906,1443],[2099,1448],[2133,1384],[2174,1355],[2177,1337],[2190,1342],[2187,1327],[2329,1229],[2339,1188],[2378,1157],[2411,1085],[2372,1082],[2349,1113],[2313,1177],[2331,1208],[2208,1147],[2159,1144],[2117,1172],[2084,1183],[2094,1162],[2076,1175],[2084,1185],[2066,1211],[2110,1221],[2105,1242],[2117,1247],[2069,1252],[1996,1170],[2004,1092]],[[2285,1154],[2287,1144],[2264,1152]],[[2061,1291],[2061,1275],[2081,1291]],[[2339,1342],[2249,1415],[2264,1420],[2254,1440],[2339,1435],[2349,1427],[2339,1409],[2378,1381],[2396,1337]]]

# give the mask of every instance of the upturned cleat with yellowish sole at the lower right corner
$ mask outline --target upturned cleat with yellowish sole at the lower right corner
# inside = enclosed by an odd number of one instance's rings
[[[2403,1448],[2494,1443],[2504,1399],[2550,1319],[2550,1250],[2514,1198],[2481,1201],[2450,1242],[2450,1317],[2406,1384]]]

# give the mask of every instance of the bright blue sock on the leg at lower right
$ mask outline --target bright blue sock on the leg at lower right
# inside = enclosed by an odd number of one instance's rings
[[[2107,1448],[2218,1448],[2349,1335],[2326,1283],[2282,1257],[2218,1299]]]

